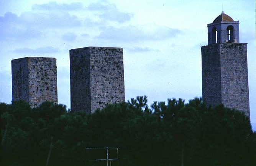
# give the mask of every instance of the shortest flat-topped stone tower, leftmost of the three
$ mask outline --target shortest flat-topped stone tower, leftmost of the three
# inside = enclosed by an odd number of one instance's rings
[[[44,101],[57,103],[56,58],[26,57],[11,61],[12,99],[32,108]]]

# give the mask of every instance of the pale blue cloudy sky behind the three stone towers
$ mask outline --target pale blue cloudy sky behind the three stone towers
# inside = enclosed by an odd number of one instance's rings
[[[57,59],[58,102],[70,108],[69,50],[123,48],[125,100],[202,97],[200,46],[221,14],[247,44],[251,122],[256,123],[255,0],[1,0],[0,99],[11,103],[11,60]]]

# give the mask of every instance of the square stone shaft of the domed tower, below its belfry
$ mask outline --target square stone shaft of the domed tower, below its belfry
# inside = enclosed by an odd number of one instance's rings
[[[244,111],[250,116],[246,44],[201,47],[203,102]]]

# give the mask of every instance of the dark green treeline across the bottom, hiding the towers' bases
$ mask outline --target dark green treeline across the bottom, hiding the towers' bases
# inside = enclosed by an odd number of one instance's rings
[[[147,97],[93,114],[44,102],[0,104],[3,166],[254,166],[256,132],[237,110],[194,98],[147,105]]]

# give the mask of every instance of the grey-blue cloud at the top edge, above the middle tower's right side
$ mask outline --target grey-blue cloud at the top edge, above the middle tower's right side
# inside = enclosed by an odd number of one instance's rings
[[[91,3],[86,9],[91,11],[100,11],[100,14],[97,14],[98,17],[108,21],[124,23],[133,18],[132,13],[121,12],[117,9],[117,6],[114,3],[109,3],[107,1]]]

